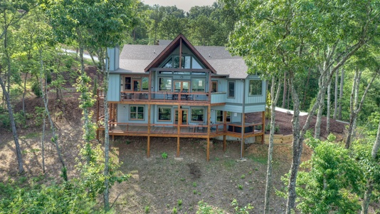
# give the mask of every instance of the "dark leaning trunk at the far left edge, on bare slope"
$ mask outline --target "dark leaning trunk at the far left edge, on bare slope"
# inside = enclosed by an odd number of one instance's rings
[[[6,86],[1,76],[0,76],[0,85],[1,85],[1,88],[3,89],[3,93],[5,96],[6,107],[8,108],[9,121],[11,121],[11,128],[12,128],[12,133],[14,136],[14,144],[16,146],[17,162],[19,163],[19,173],[21,174],[24,172],[24,170],[23,170],[23,158],[21,156],[21,148],[20,148],[20,143],[19,143],[19,135],[17,134],[17,130],[16,130],[16,123],[14,121],[14,113],[12,112],[11,98],[9,98],[9,93],[6,92]]]

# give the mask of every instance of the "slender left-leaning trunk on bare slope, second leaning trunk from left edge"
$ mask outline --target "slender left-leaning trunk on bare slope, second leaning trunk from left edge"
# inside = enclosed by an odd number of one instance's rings
[[[56,135],[56,126],[54,126],[53,119],[51,118],[50,111],[48,109],[48,94],[46,91],[46,87],[43,87],[43,79],[45,80],[45,85],[46,85],[46,78],[43,78],[43,71],[45,71],[45,67],[43,66],[43,59],[42,59],[42,50],[39,50],[40,52],[40,60],[41,60],[41,71],[40,71],[40,76],[41,76],[41,91],[42,91],[42,100],[43,100],[43,105],[45,106],[45,112],[46,115],[48,116],[48,121],[51,126],[51,133],[53,134],[52,138],[52,143],[56,146],[56,150],[58,153],[58,159],[60,161],[60,164],[62,165],[62,177],[63,180],[68,181],[68,174],[67,174],[67,168],[65,165],[65,161],[63,161],[62,153],[60,151],[59,147],[59,142],[58,142],[58,135]]]

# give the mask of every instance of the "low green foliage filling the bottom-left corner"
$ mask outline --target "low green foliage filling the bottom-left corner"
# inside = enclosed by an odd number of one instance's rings
[[[80,180],[20,188],[0,183],[0,213],[98,213]]]

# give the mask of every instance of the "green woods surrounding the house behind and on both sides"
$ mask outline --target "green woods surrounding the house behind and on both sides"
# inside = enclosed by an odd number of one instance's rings
[[[376,208],[380,183],[379,12],[379,0],[223,0],[212,6],[195,6],[186,13],[176,6],[147,6],[133,0],[1,1],[0,130],[4,135],[11,133],[14,142],[18,165],[14,177],[22,176],[28,167],[19,133],[38,128],[42,160],[44,142],[50,142],[62,179],[57,179],[57,184],[44,180],[47,185],[23,187],[1,178],[0,210],[4,211],[0,212],[102,212],[95,204],[100,195],[105,212],[110,210],[110,187],[128,176],[118,173],[120,164],[110,158],[107,128],[102,146],[94,143],[97,124],[91,118],[92,106],[96,89],[107,90],[107,48],[156,44],[184,34],[194,45],[227,46],[231,53],[245,58],[249,72],[268,81],[271,136],[275,133],[273,107],[295,112],[289,121],[294,139],[292,166],[285,179],[287,188],[279,193],[287,198],[286,213],[367,213],[369,205]],[[78,56],[64,54],[63,48],[78,50]],[[85,51],[99,61],[85,61]],[[85,72],[88,64],[98,73],[89,77]],[[49,108],[49,98],[59,106],[68,87],[80,93],[83,111],[81,161],[73,176],[79,179],[70,179],[74,170],[62,156],[65,138],[58,134],[59,115],[52,115]],[[25,98],[36,97],[41,106],[28,108]],[[15,108],[20,101],[21,108]],[[66,115],[68,111],[65,108]],[[302,126],[299,111],[309,112]],[[104,114],[107,123],[107,111]],[[310,127],[312,116],[317,120],[314,127]],[[320,140],[322,116],[327,118],[327,133],[329,118],[348,121],[343,142],[336,142],[333,136]],[[307,134],[310,128],[314,136]],[[302,166],[307,170],[299,172],[305,139],[314,153]],[[270,213],[273,190],[272,150],[271,137],[265,213]],[[239,212],[248,210],[237,206]]]

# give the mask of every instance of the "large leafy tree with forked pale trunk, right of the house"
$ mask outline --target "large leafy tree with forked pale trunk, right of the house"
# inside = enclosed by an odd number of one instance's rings
[[[226,0],[228,6],[236,1]],[[295,184],[302,142],[312,115],[339,67],[377,34],[379,1],[359,4],[340,1],[238,1],[239,22],[230,36],[230,50],[246,56],[250,71],[268,76],[287,72],[292,95],[292,167],[286,213],[295,209]],[[342,44],[349,44],[347,49]],[[300,97],[296,81],[308,68],[320,71],[320,87],[304,126],[300,126]]]

